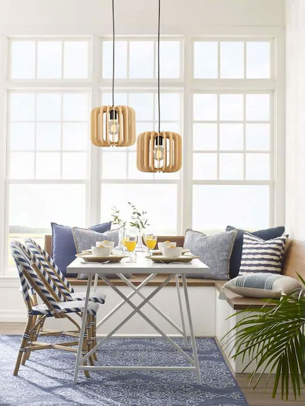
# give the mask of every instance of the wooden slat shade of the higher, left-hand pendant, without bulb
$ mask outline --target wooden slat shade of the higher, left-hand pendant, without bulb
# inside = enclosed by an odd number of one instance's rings
[[[120,130],[116,140],[109,135],[111,110],[115,110]],[[91,143],[97,147],[129,147],[135,143],[135,110],[128,106],[101,106],[91,111]]]

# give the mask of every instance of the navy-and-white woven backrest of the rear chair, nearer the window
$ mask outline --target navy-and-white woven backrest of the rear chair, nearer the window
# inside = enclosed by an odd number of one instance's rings
[[[46,271],[54,286],[57,287],[56,293],[60,300],[74,300],[71,296],[71,292],[68,290],[68,287],[63,283],[61,276],[58,272],[55,272],[54,268],[50,266],[50,262],[46,260],[44,255],[41,252],[41,247],[37,247],[33,240],[27,238],[25,239],[26,247],[30,252],[35,255],[35,257],[40,262],[42,268]],[[57,268],[58,269],[58,268]],[[59,271],[59,270],[58,270]],[[59,271],[60,272],[60,271]],[[60,272],[61,273],[61,272]]]

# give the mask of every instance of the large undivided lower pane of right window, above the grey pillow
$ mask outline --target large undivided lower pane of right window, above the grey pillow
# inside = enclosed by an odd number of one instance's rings
[[[194,185],[193,228],[210,234],[227,225],[245,230],[269,227],[269,186]]]

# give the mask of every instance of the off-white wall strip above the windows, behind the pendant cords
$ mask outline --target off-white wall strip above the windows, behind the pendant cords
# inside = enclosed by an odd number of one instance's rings
[[[118,32],[123,26],[157,28],[157,1],[116,0]],[[164,28],[182,26],[283,26],[284,0],[162,0]],[[111,0],[0,0],[0,33],[26,27],[84,27],[90,34],[110,28]],[[121,28],[119,28],[121,26]]]

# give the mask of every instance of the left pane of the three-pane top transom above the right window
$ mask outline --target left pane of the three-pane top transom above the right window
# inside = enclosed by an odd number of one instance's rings
[[[194,78],[218,78],[218,42],[194,42]]]

